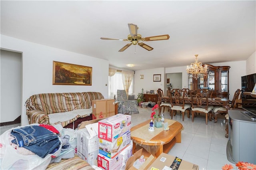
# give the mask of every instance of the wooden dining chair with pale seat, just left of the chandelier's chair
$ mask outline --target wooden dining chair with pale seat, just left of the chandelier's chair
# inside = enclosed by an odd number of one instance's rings
[[[182,121],[184,121],[184,113],[187,109],[191,108],[190,104],[185,104],[184,97],[188,96],[188,91],[186,89],[172,89],[171,91],[171,119],[175,111],[180,111],[182,113]],[[190,110],[189,110],[190,112]],[[188,113],[189,115],[190,113]]]

